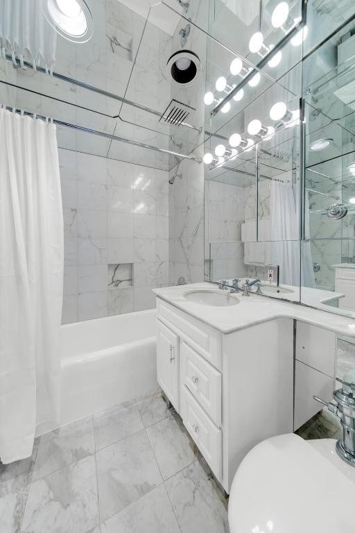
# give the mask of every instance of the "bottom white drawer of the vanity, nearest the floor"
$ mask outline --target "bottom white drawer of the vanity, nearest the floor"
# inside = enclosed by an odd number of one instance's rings
[[[198,405],[187,387],[181,389],[181,415],[189,434],[217,479],[222,476],[222,432]]]

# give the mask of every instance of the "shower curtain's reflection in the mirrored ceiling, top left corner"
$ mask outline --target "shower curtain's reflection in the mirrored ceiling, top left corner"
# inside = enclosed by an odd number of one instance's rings
[[[57,33],[44,17],[45,0],[0,0],[0,49],[12,59],[30,60],[50,71],[55,62]]]

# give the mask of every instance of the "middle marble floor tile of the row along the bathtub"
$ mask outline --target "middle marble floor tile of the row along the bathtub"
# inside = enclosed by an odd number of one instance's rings
[[[96,450],[143,430],[144,425],[135,401],[122,403],[94,414]]]

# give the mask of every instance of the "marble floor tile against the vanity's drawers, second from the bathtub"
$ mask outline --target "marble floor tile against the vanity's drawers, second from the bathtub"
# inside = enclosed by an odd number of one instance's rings
[[[198,450],[179,416],[170,416],[146,431],[164,480],[196,459]]]

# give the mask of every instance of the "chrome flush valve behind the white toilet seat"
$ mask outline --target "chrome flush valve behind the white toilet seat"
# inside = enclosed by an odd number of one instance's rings
[[[343,439],[336,442],[336,452],[347,464],[355,466],[355,384],[336,378],[343,387],[333,392],[336,404],[324,402],[318,396],[314,400],[325,405],[330,412],[340,418],[343,426]]]

